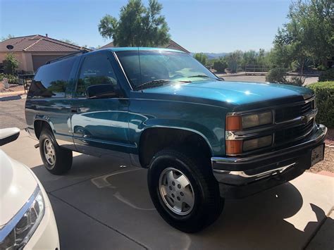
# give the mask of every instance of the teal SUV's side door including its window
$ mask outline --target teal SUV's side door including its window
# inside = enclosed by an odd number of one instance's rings
[[[112,85],[117,94],[89,98],[87,88],[92,85]],[[70,112],[78,151],[94,156],[122,157],[120,153],[128,152],[128,99],[120,87],[109,54],[101,51],[83,58]]]

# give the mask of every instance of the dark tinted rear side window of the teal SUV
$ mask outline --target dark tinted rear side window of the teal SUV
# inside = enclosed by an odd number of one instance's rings
[[[28,97],[64,97],[74,62],[75,57],[39,68],[30,86]]]

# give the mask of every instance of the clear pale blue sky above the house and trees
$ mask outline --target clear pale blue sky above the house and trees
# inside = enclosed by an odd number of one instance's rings
[[[45,35],[80,46],[111,42],[97,25],[106,14],[118,18],[121,0],[0,0],[0,37]],[[147,6],[147,0],[143,0]],[[290,0],[159,0],[171,38],[192,52],[271,49]]]

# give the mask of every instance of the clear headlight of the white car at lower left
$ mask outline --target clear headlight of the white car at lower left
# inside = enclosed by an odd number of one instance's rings
[[[37,186],[23,208],[0,230],[0,249],[23,249],[44,215],[44,199]]]

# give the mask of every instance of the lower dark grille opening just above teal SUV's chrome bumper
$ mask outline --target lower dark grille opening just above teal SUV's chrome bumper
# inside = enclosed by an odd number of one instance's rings
[[[313,125],[314,119],[311,119],[307,124],[290,127],[285,130],[278,130],[275,132],[275,144],[283,144],[302,137],[303,135],[307,135],[312,130]]]

